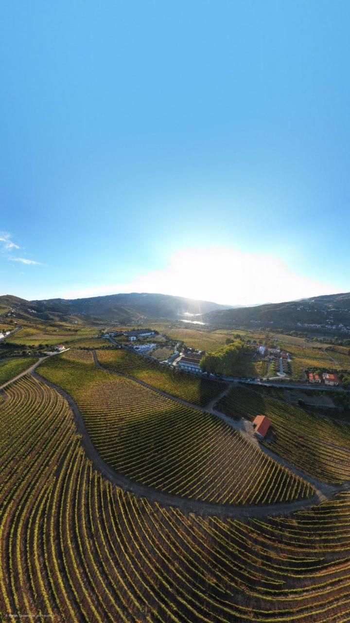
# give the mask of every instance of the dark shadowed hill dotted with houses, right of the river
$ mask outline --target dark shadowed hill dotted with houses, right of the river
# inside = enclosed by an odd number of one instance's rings
[[[215,326],[301,327],[321,325],[330,328],[350,326],[350,293],[305,298],[300,301],[268,303],[257,307],[214,310],[201,318]]]

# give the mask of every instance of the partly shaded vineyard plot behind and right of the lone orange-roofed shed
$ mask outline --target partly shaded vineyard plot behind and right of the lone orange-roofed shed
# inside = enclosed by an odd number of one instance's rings
[[[273,426],[268,448],[273,452],[324,482],[350,480],[350,429],[346,424],[313,416],[242,386],[232,388],[215,409],[235,419],[268,416]]]

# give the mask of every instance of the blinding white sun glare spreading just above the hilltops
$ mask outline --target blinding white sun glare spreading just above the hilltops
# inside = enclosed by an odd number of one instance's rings
[[[158,292],[227,305],[277,303],[335,293],[329,283],[293,273],[273,255],[242,252],[230,247],[182,249],[163,270],[144,273],[130,282],[80,287],[64,298],[93,297],[118,292]]]

